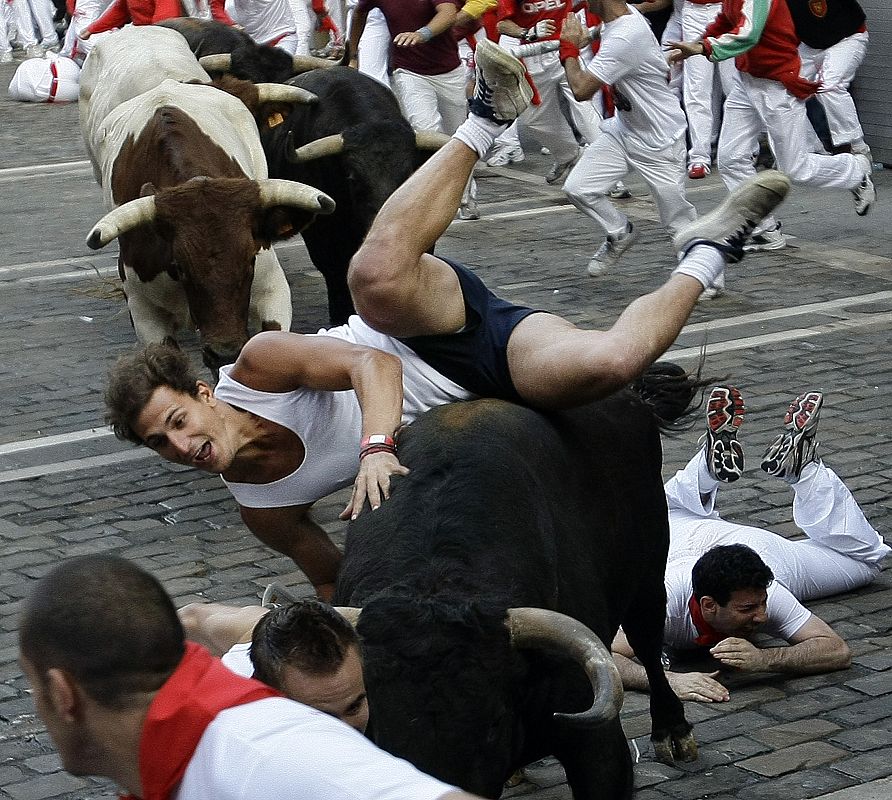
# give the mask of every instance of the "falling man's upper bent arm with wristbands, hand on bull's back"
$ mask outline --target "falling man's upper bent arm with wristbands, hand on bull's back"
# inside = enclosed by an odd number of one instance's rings
[[[281,331],[258,334],[242,349],[231,375],[265,392],[300,387],[332,392],[353,389],[362,410],[363,436],[392,436],[402,419],[403,367],[399,358],[331,336]],[[356,449],[358,457],[359,442]],[[373,509],[377,508],[390,496],[390,477],[407,473],[393,453],[373,453],[363,458],[342,519],[355,519],[366,499]]]

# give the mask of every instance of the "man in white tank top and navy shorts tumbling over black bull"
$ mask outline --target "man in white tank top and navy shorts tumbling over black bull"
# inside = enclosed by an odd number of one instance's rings
[[[599,12],[602,2],[591,3]],[[606,331],[512,305],[461,264],[430,255],[474,164],[527,107],[523,64],[477,47],[470,114],[452,140],[384,204],[350,266],[358,316],[316,335],[251,339],[212,389],[188,358],[150,345],[111,370],[116,435],[220,474],[247,526],[290,556],[327,599],[341,553],[309,516],[353,484],[342,518],[378,508],[406,474],[395,432],[427,409],[474,397],[535,408],[581,405],[639,376],[675,341],[700,293],[742,258],[753,227],[790,182],[763,172],[680,231],[678,266]]]

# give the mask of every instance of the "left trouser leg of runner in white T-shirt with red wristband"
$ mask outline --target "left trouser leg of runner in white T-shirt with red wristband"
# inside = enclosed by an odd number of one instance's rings
[[[564,193],[606,233],[622,233],[629,218],[607,199],[607,192],[628,173],[629,160],[623,144],[609,133],[601,133],[582,151],[564,181]]]

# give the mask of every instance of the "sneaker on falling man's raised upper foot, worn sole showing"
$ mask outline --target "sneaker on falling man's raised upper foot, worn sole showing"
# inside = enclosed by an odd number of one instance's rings
[[[468,108],[478,117],[512,122],[533,99],[523,62],[489,39],[477,43],[474,70],[477,85]]]

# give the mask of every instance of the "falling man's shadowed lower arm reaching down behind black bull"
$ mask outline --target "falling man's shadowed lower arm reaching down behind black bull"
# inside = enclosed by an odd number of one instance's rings
[[[290,556],[310,579],[316,594],[330,600],[341,564],[341,551],[309,515],[310,506],[246,508],[242,519],[261,542]]]

